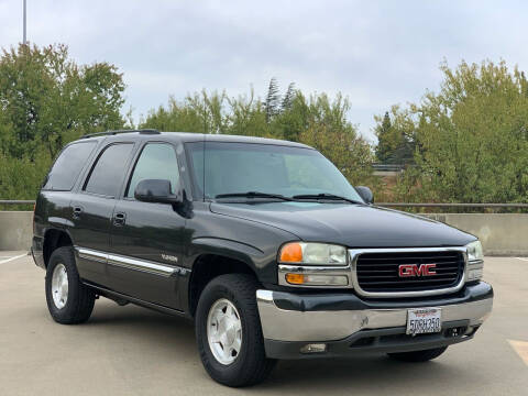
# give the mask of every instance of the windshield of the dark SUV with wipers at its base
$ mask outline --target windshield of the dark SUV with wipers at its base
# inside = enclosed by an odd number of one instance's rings
[[[258,191],[285,197],[328,194],[362,201],[321,153],[254,143],[188,143],[199,196]]]

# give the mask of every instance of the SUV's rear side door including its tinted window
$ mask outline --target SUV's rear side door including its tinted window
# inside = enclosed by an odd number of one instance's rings
[[[72,200],[70,232],[81,278],[107,286],[106,255],[116,197],[124,182],[133,143],[108,144]]]

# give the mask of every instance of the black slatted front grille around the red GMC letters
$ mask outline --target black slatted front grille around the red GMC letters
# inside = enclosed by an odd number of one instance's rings
[[[457,286],[464,274],[464,258],[457,251],[364,253],[356,260],[358,284],[367,293],[450,288]],[[399,277],[402,264],[436,264],[437,275]]]

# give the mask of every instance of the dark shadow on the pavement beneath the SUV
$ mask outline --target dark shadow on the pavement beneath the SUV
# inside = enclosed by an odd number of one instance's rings
[[[193,321],[134,306],[121,308],[113,302],[108,304],[96,306],[95,315],[86,323],[87,327],[96,328],[107,337],[114,333],[125,342],[141,340],[150,351],[155,352],[157,359],[166,362],[182,359],[193,362],[200,367],[201,375],[197,373],[198,376],[210,381],[199,363]],[[128,340],[122,340],[123,337]],[[354,394],[372,393],[375,389],[377,394],[392,395],[410,394],[413,392],[409,392],[409,387],[424,389],[428,386],[438,388],[459,381],[482,382],[479,374],[471,370],[470,356],[465,356],[465,363],[459,361],[452,364],[450,353],[454,352],[448,350],[446,355],[438,360],[422,364],[402,363],[383,354],[351,359],[280,361],[268,381],[244,388],[243,393],[266,394],[279,391],[280,394],[312,394],[317,389],[317,394],[322,394],[342,393],[348,388],[353,389]]]

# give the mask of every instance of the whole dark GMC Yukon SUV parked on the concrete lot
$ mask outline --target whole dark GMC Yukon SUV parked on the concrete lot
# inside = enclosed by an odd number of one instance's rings
[[[187,317],[229,386],[279,359],[425,362],[471,340],[493,301],[475,237],[376,207],[316,150],[267,139],[73,142],[37,197],[32,253],[55,321],[88,320],[98,297]]]

